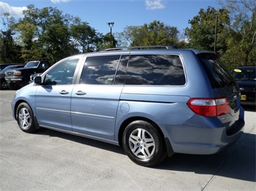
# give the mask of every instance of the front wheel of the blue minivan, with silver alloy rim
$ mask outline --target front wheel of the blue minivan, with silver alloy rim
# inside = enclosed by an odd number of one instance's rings
[[[20,103],[17,107],[17,122],[19,129],[26,133],[32,133],[36,131],[35,121],[32,109],[27,103]]]

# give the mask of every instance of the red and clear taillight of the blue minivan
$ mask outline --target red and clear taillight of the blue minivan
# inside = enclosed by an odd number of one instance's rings
[[[191,98],[187,106],[200,116],[214,117],[229,113],[227,98]]]

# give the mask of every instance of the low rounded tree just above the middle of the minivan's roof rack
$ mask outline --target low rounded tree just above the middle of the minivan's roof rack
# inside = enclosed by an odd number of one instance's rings
[[[143,26],[128,26],[122,35],[130,46],[178,45],[178,33],[177,27],[155,20]]]

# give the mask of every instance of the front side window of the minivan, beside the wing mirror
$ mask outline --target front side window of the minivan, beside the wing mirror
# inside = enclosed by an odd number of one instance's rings
[[[61,64],[57,65],[56,67],[53,67],[53,69],[45,75],[45,85],[71,84],[74,78],[74,73],[78,62],[78,58],[74,60],[66,60]]]

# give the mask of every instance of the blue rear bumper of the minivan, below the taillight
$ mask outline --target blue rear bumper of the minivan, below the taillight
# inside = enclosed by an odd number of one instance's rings
[[[190,120],[196,121],[198,118]],[[229,131],[226,131],[225,126],[209,126],[208,121],[204,121],[204,123],[206,126],[190,126],[192,123],[185,123],[182,126],[171,127],[169,139],[173,152],[216,154],[237,141],[244,131],[244,118],[240,118]]]

